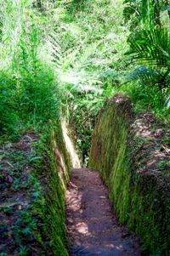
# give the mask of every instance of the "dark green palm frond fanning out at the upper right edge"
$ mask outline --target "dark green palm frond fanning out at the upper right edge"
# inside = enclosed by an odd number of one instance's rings
[[[170,68],[170,35],[167,28],[140,29],[128,38],[134,60],[144,60],[150,65]]]

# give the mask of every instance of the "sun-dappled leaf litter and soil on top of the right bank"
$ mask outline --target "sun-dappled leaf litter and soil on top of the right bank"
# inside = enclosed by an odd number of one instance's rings
[[[138,154],[140,152],[137,173],[157,174],[156,180],[161,182],[164,175],[169,175],[167,166],[170,149],[162,139],[166,128],[158,127],[156,118],[150,113],[140,114],[131,128],[135,138],[141,139],[139,145],[136,145],[136,151]]]

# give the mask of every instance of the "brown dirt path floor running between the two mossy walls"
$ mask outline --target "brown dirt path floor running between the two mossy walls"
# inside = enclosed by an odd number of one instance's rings
[[[71,256],[141,255],[135,237],[117,224],[108,191],[97,172],[72,170],[66,214]]]

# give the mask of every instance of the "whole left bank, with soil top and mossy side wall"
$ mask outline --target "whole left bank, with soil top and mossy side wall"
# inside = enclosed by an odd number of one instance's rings
[[[65,187],[71,166],[59,123],[41,138],[30,131],[1,151],[0,255],[68,255]]]

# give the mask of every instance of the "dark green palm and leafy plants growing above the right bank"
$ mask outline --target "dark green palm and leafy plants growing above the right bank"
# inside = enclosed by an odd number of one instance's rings
[[[138,17],[138,23],[135,24],[135,29],[127,39],[129,45],[127,54],[130,55],[133,64],[138,67],[127,76],[127,81],[138,80],[141,84],[139,95],[145,91],[145,103],[150,102],[148,107],[152,109],[156,107],[155,110],[158,112],[163,112],[161,109],[165,108],[166,112],[170,85],[170,34],[168,26],[161,20],[161,9],[164,3],[150,0],[133,3],[126,1],[126,3],[130,3],[130,6],[127,5],[128,8],[125,8],[128,17],[132,13],[132,5],[133,15]],[[151,87],[156,89],[150,89]],[[135,95],[137,99],[140,98],[139,95]]]

